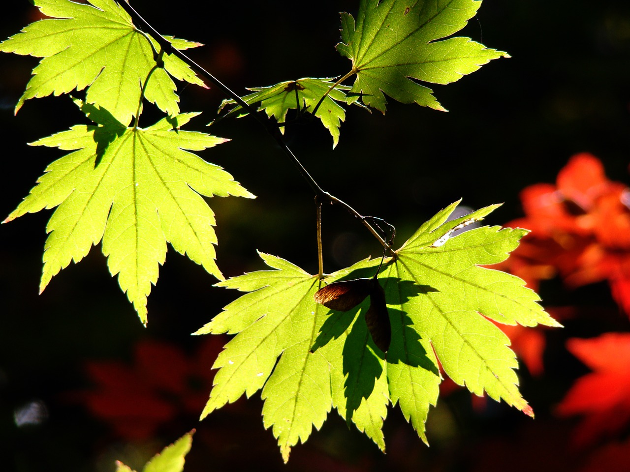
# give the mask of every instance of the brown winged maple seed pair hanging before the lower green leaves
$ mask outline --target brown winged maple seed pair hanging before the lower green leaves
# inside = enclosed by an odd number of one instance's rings
[[[376,278],[353,279],[343,282],[333,282],[319,289],[315,301],[321,305],[347,312],[370,296],[370,308],[365,312],[365,323],[370,335],[379,349],[387,352],[391,341],[391,323],[385,303],[385,291]]]

